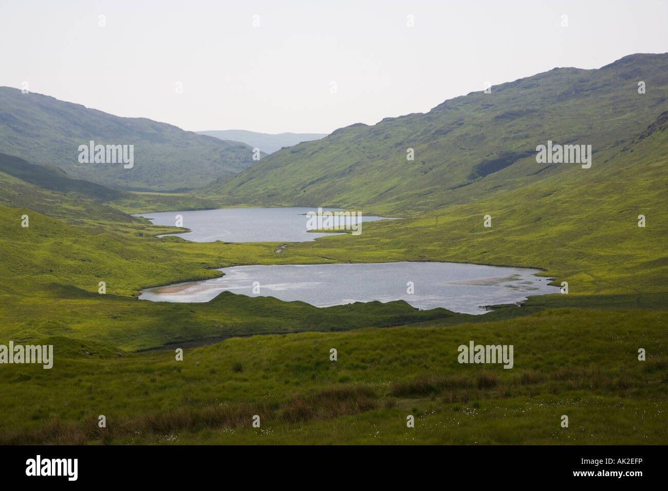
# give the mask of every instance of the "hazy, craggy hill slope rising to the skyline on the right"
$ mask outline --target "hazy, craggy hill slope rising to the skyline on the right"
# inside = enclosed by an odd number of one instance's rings
[[[646,94],[638,93],[645,81]],[[601,69],[558,68],[448,100],[427,114],[355,124],[271,154],[202,191],[220,204],[343,206],[407,216],[550,180],[576,164],[537,164],[536,146],[623,147],[668,110],[668,54]],[[413,148],[415,160],[407,161]]]

